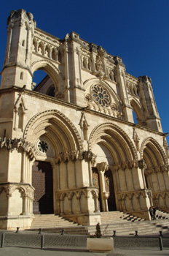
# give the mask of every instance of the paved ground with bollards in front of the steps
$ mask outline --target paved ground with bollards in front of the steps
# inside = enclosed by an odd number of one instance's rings
[[[4,247],[0,255],[55,255],[55,256],[139,256],[139,255],[169,255],[169,234],[162,237],[163,250],[160,251],[159,238],[154,237],[115,237],[113,252],[88,252],[86,249],[87,236],[71,236],[56,233],[20,231],[1,231],[4,233]],[[42,235],[44,249],[41,249]]]

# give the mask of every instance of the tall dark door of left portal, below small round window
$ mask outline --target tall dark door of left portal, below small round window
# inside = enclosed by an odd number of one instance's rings
[[[34,214],[53,214],[53,180],[50,162],[34,162],[32,186],[35,189]]]

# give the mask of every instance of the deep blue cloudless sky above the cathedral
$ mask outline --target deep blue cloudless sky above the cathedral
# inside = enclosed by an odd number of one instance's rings
[[[21,8],[33,13],[39,29],[61,39],[75,31],[87,42],[120,56],[131,75],[152,78],[163,132],[169,132],[169,0],[3,1],[0,69],[7,17]]]

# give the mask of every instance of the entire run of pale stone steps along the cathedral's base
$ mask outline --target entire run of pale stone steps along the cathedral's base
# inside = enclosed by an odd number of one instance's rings
[[[169,232],[169,214],[157,211],[157,219],[149,221],[131,214],[125,214],[121,211],[110,211],[101,213],[101,233],[103,236],[113,236],[114,230],[117,236],[135,235],[135,230],[138,231],[138,236],[146,236]],[[95,234],[95,225],[82,226],[74,222],[70,222],[58,215],[42,214],[35,215],[29,230],[39,230],[42,228],[44,232],[61,233],[62,230],[66,234],[86,235]]]

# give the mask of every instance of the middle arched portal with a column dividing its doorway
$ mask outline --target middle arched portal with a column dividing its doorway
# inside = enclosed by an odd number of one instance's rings
[[[134,189],[141,189],[138,156],[133,143],[117,125],[106,123],[95,127],[89,147],[97,155],[93,185],[99,188],[101,211],[125,211],[124,192],[128,195]],[[130,211],[132,204],[131,201]]]

